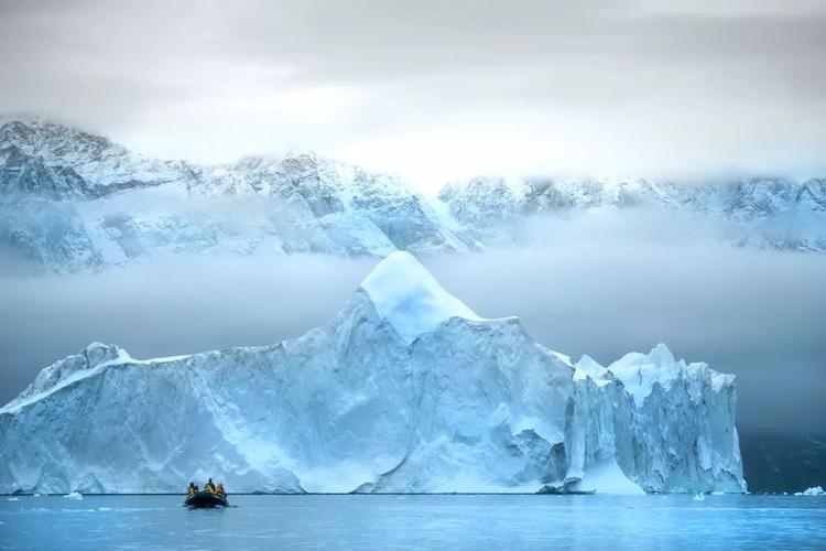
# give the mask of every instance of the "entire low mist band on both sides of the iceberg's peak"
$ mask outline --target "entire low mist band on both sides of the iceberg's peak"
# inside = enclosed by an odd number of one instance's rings
[[[526,229],[530,248],[422,260],[479,315],[518,315],[574,359],[607,365],[663,342],[676,357],[737,374],[741,429],[825,432],[826,257],[733,248],[713,228],[660,222],[543,223]],[[4,277],[0,401],[93,341],[146,358],[300,336],[376,262],[172,257],[99,274]]]

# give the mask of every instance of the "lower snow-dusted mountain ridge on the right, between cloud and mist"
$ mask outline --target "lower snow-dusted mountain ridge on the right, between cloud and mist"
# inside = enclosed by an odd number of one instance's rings
[[[480,246],[519,244],[519,229],[530,218],[653,213],[714,223],[736,246],[826,251],[826,179],[750,177],[711,184],[475,177],[446,185],[439,199],[461,235]]]

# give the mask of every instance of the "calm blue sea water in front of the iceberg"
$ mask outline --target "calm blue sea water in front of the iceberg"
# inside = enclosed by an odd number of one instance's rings
[[[826,549],[826,498],[0,497],[0,549]]]

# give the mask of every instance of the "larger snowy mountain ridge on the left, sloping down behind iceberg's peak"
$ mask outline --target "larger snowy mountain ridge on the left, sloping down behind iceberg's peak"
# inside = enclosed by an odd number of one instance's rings
[[[0,247],[70,272],[164,253],[466,249],[396,177],[315,154],[198,166],[42,119],[0,126]]]

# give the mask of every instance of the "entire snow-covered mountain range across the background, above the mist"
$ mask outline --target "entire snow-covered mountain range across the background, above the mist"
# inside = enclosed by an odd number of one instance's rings
[[[204,166],[46,119],[0,118],[0,252],[46,271],[170,253],[478,250],[524,245],[520,229],[535,218],[606,212],[687,213],[724,223],[735,245],[826,250],[826,180],[478,177],[425,198],[398,177],[312,153]]]

